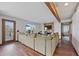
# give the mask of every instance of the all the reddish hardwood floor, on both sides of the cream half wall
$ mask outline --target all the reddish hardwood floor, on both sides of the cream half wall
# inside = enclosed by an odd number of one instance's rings
[[[69,42],[59,42],[54,56],[76,56],[72,45]],[[0,46],[0,56],[43,56],[42,54],[24,46],[19,42],[8,43]]]

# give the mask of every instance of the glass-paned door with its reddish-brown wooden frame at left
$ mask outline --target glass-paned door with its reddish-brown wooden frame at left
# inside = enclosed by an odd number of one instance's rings
[[[2,19],[2,44],[16,41],[16,22]]]

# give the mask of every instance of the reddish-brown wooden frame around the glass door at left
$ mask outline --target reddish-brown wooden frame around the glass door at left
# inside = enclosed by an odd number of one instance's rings
[[[14,35],[12,42],[16,41],[16,21],[8,20],[8,19],[2,19],[2,44],[5,44],[5,21],[13,22],[14,23]]]

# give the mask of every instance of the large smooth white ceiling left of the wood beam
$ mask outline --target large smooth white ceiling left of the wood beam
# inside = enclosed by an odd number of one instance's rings
[[[52,22],[55,19],[43,2],[0,2],[0,14],[37,23]]]

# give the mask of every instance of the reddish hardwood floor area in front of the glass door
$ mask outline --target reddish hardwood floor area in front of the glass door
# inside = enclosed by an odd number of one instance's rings
[[[42,56],[19,42],[0,46],[0,56]]]

